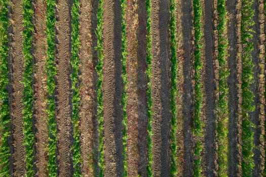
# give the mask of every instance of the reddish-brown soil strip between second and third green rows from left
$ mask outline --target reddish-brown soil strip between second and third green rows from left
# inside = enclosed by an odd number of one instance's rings
[[[33,117],[35,119],[35,170],[37,176],[47,176],[47,145],[48,126],[46,113],[46,3],[44,0],[36,0],[33,3]]]

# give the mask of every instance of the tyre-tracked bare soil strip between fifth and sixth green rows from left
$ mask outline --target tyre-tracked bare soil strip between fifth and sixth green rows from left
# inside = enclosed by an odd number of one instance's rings
[[[104,176],[122,176],[122,78],[120,1],[103,5]]]

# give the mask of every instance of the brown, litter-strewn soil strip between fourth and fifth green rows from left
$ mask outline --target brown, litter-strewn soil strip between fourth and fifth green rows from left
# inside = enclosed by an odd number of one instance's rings
[[[96,82],[97,73],[97,37],[95,29],[97,26],[96,1],[81,1],[80,8],[80,96],[79,106],[80,131],[81,131],[81,155],[83,164],[81,171],[83,176],[97,174],[97,100]]]

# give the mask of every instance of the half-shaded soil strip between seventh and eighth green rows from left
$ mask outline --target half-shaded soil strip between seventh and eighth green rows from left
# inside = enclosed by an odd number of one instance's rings
[[[151,1],[151,98],[153,101],[153,164],[155,176],[169,176],[170,145],[170,55],[169,5],[166,1]]]

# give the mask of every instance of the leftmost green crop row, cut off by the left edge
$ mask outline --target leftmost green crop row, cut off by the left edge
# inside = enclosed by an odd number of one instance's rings
[[[0,1],[0,176],[9,176],[8,0]]]

